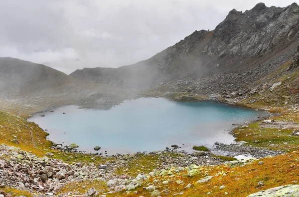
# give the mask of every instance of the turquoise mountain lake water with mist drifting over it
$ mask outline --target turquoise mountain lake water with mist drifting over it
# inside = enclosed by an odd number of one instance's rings
[[[65,113],[65,114],[63,114]],[[163,150],[172,144],[192,152],[193,145],[231,143],[232,124],[243,124],[261,113],[217,102],[175,102],[164,98],[125,101],[108,110],[65,106],[28,119],[48,130],[55,143],[76,143],[80,150],[105,155]],[[265,115],[265,113],[264,113]]]

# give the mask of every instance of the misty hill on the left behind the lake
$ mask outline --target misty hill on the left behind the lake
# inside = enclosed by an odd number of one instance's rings
[[[43,105],[116,104],[127,98],[120,89],[82,82],[41,64],[0,58],[0,99]],[[46,104],[47,103],[47,104]]]

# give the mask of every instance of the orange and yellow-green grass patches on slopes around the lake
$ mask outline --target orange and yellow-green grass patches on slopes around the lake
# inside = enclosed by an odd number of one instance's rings
[[[298,111],[294,112],[291,109],[290,103],[294,103],[297,95],[291,95],[288,85],[299,75],[299,70],[287,71],[289,63],[282,65],[278,70],[272,74],[266,76],[264,79],[257,81],[255,85],[263,85],[265,82],[274,83],[282,81],[283,84],[274,91],[265,90],[261,93],[252,95],[246,100],[239,102],[240,105],[254,107],[258,109],[268,109],[272,112],[279,112],[280,115],[276,117],[276,120],[299,122]],[[175,95],[175,96],[179,96]],[[288,104],[285,104],[288,102]],[[12,109],[12,114],[27,117],[30,114],[30,109],[23,109],[22,113],[18,105],[11,105],[5,109]],[[117,194],[110,194],[110,196],[150,196],[149,192],[144,189],[149,185],[158,185],[159,191],[166,190],[162,196],[172,196],[173,194],[183,192],[183,197],[201,197],[206,196],[208,192],[211,192],[213,197],[222,197],[225,192],[228,197],[246,197],[251,193],[258,192],[260,190],[266,190],[269,188],[295,184],[295,181],[299,181],[299,153],[294,152],[298,150],[299,138],[291,136],[292,129],[279,131],[279,129],[261,128],[259,122],[250,124],[248,128],[242,128],[243,130],[236,129],[234,134],[238,140],[248,141],[250,145],[259,147],[268,147],[271,149],[283,149],[290,153],[286,155],[280,155],[274,158],[265,158],[264,165],[258,165],[258,161],[248,164],[245,167],[237,167],[229,169],[225,165],[221,166],[208,166],[202,167],[202,175],[196,177],[187,177],[186,171],[174,173],[172,177],[152,177],[146,180],[142,187],[137,188],[135,192],[122,192]],[[31,131],[33,140],[31,137]],[[82,161],[85,163],[94,162],[102,163],[100,157],[93,158],[92,155],[71,154],[62,153],[56,150],[50,150],[51,142],[46,140],[47,133],[42,131],[36,124],[29,123],[23,118],[11,115],[6,112],[0,112],[0,143],[7,145],[13,145],[20,147],[23,150],[30,151],[39,157],[44,156],[47,152],[52,152],[54,158],[62,159],[65,162],[72,163]],[[15,142],[17,139],[19,144]],[[258,142],[255,142],[258,141]],[[285,144],[288,142],[288,144]],[[275,146],[269,146],[274,144]],[[173,155],[174,157],[177,155]],[[95,160],[94,160],[95,159]],[[115,170],[115,174],[126,174],[130,176],[136,176],[140,172],[150,172],[159,166],[157,156],[144,156],[141,155],[137,158],[130,159],[127,165],[119,166]],[[214,176],[208,183],[196,184],[196,182],[203,178],[205,175]],[[161,184],[162,181],[169,180],[166,185]],[[184,184],[178,185],[175,180],[182,180]],[[264,187],[257,188],[259,181],[264,182]],[[191,188],[185,189],[184,187],[191,183]],[[219,187],[224,185],[225,188],[220,190]],[[86,188],[82,187],[85,186]],[[83,194],[88,188],[95,187],[97,190],[105,192],[107,187],[105,183],[97,181],[88,181],[82,183],[73,183],[65,186],[60,192],[65,193],[76,190],[78,194]],[[74,189],[75,188],[75,189]],[[25,192],[17,191],[14,189],[5,189],[6,192],[15,195],[25,195]]]

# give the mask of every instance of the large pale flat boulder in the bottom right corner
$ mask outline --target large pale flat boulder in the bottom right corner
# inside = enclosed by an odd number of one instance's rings
[[[299,185],[286,185],[260,191],[247,197],[299,197]]]

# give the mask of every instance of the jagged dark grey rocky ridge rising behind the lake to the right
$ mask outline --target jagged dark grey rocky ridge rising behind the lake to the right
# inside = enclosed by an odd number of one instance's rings
[[[231,10],[213,31],[195,31],[146,61],[70,75],[114,87],[148,88],[188,76],[250,71],[299,41],[299,5]]]

